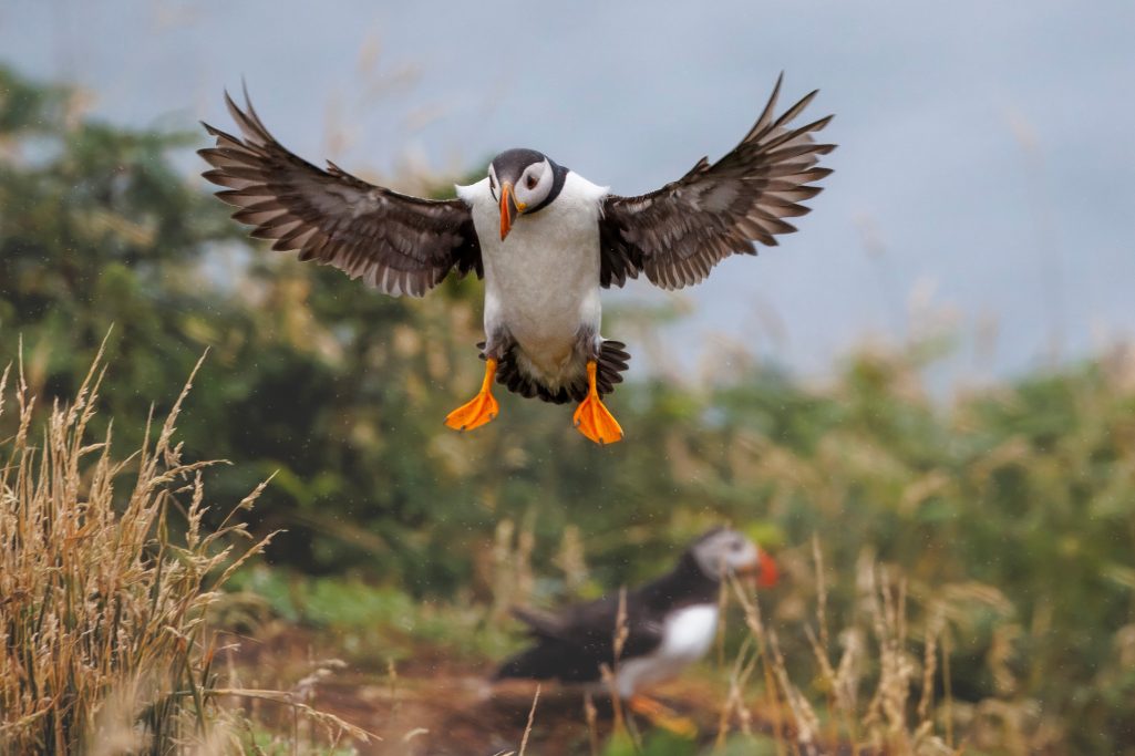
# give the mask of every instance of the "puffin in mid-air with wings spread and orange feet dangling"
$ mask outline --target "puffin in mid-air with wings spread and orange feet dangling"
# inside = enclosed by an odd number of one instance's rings
[[[783,78],[783,75],[781,76]],[[781,79],[757,123],[731,152],[703,158],[684,176],[640,196],[611,194],[536,150],[506,150],[488,175],[456,186],[453,200],[426,200],[369,184],[328,161],[322,170],[286,150],[257,116],[226,93],[241,136],[202,124],[217,138],[199,151],[233,217],[274,250],[297,250],[379,291],[422,296],[454,271],[485,278],[485,379],[448,414],[456,430],[493,420],[494,378],[510,390],[562,404],[598,444],[622,439],[602,396],[622,380],[625,345],[600,335],[599,289],[645,272],[666,289],[696,284],[731,254],[756,254],[794,232],[784,220],[809,211],[834,149],[813,134],[832,116],[793,127],[812,92],[775,114]]]

